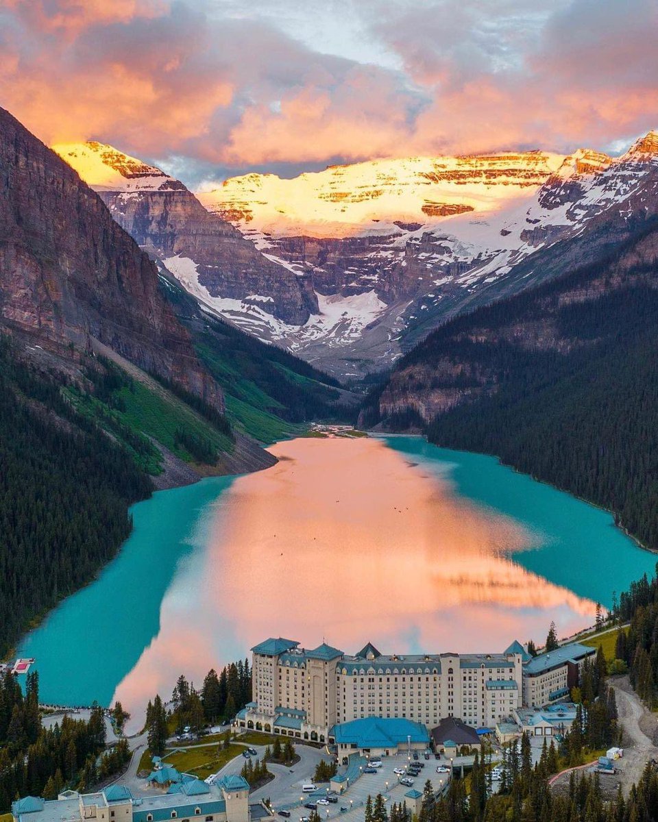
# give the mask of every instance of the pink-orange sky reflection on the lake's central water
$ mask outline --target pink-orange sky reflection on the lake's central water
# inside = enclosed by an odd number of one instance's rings
[[[118,686],[139,709],[178,673],[210,667],[267,636],[348,653],[502,651],[514,639],[591,624],[595,604],[517,566],[520,524],[457,497],[451,484],[373,439],[299,439],[280,462],[236,480],[206,552],[179,571],[160,633]]]

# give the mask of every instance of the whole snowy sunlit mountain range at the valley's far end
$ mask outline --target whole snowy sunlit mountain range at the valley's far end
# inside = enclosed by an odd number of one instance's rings
[[[109,145],[54,148],[209,310],[336,376],[387,367],[450,316],[594,260],[658,210],[656,132],[617,158],[382,159],[197,196]]]

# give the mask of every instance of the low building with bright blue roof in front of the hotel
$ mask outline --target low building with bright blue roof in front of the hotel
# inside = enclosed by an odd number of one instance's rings
[[[405,750],[425,750],[429,744],[427,728],[410,719],[364,717],[335,725],[339,760],[350,754],[389,756]]]

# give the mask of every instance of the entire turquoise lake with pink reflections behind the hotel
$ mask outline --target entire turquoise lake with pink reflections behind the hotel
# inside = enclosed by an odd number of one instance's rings
[[[19,649],[43,700],[141,724],[183,672],[268,636],[354,653],[503,651],[592,624],[656,565],[612,517],[482,455],[414,436],[298,439],[260,473],[157,492],[86,589]]]

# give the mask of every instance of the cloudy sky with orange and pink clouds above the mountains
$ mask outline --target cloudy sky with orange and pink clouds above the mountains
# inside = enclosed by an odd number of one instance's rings
[[[656,0],[0,0],[0,105],[197,186],[658,126]]]

